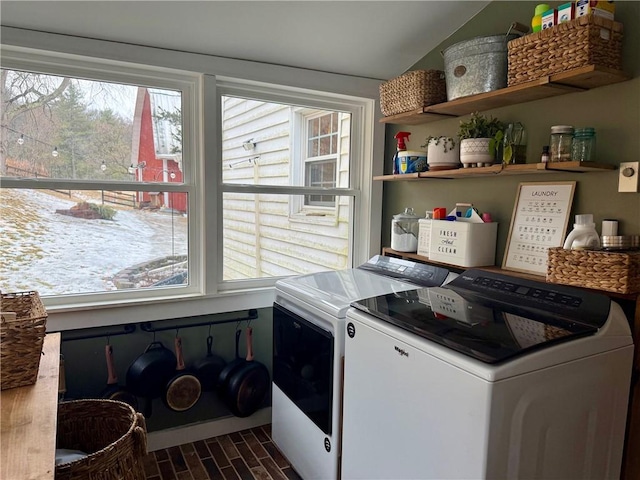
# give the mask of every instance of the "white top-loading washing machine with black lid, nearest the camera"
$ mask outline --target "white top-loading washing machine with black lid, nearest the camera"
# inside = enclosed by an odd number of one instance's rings
[[[608,297],[468,270],[353,306],[342,478],[619,478],[633,343]]]

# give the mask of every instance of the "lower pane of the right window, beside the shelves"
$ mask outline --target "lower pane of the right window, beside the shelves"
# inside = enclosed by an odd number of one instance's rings
[[[352,201],[337,215],[291,216],[301,196],[223,194],[224,280],[297,275],[348,267]]]

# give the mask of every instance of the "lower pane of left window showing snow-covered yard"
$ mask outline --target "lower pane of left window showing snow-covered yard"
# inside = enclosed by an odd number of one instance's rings
[[[186,195],[0,189],[0,286],[43,296],[186,286]]]

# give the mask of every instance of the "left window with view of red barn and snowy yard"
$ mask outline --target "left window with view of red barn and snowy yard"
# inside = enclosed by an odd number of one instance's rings
[[[25,66],[1,71],[2,289],[61,303],[193,291],[183,105],[194,80]]]

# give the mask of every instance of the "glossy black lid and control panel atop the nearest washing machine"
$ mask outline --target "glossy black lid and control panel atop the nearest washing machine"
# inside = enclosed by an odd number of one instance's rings
[[[605,295],[466,271],[446,287],[394,292],[353,307],[485,363],[499,363],[595,334],[611,306]]]

